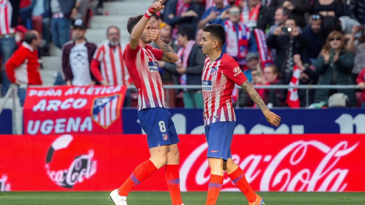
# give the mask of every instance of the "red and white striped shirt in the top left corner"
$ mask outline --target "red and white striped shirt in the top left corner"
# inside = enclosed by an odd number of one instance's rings
[[[0,0],[0,35],[14,34],[11,28],[11,16],[13,7],[9,0]]]

